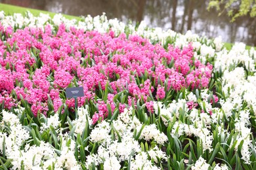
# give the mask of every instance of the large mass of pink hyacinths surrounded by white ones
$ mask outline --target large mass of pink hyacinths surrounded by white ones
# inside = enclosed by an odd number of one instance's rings
[[[35,116],[38,112],[47,114],[49,97],[55,112],[63,102],[74,107],[74,99],[60,95],[70,84],[84,88],[85,97],[79,97],[79,106],[90,99],[96,101],[95,122],[108,114],[107,104],[114,111],[114,95],[123,90],[128,90],[129,97],[126,104],[119,103],[119,110],[138,99],[150,102],[150,93],[156,93],[155,99],[164,99],[164,82],[167,90],[177,91],[207,87],[211,77],[212,66],[193,58],[191,45],[165,49],[138,35],[127,39],[124,33],[114,37],[113,31],[100,34],[74,27],[66,31],[63,24],[56,33],[49,25],[44,31],[25,27],[13,32],[0,24],[0,31],[6,39],[0,41],[0,102],[4,97],[5,107],[10,108],[21,95],[30,103]],[[9,69],[5,69],[7,65]],[[108,99],[95,100],[106,84],[111,89]],[[12,99],[12,89],[17,98]]]

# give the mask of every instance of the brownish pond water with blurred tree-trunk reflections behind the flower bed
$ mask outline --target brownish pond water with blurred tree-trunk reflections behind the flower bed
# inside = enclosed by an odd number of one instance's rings
[[[244,42],[256,46],[256,18],[238,18],[230,23],[223,14],[218,17],[215,10],[207,10],[205,0],[0,0],[1,3],[33,9],[61,12],[74,16],[101,15],[106,12],[108,19],[118,18],[147,25],[173,29],[185,33],[223,37],[224,42]]]

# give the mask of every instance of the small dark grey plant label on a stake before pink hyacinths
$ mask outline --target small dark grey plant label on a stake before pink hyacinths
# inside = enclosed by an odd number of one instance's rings
[[[66,88],[66,97],[75,99],[75,118],[77,118],[77,97],[83,97],[83,87]]]

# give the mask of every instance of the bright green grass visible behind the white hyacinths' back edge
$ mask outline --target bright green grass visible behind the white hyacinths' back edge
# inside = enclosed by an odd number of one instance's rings
[[[27,10],[29,10],[34,16],[38,16],[40,13],[43,14],[49,14],[49,16],[51,16],[51,18],[53,18],[53,16],[56,14],[54,12],[48,12],[45,10],[37,10],[37,9],[28,9],[28,8],[24,8],[24,7],[17,7],[14,5],[7,5],[7,4],[3,4],[0,3],[0,11],[3,10],[5,11],[5,14],[7,15],[12,15],[14,13],[20,13],[20,14],[25,14],[25,12]],[[79,16],[71,16],[71,15],[66,15],[66,14],[62,14],[65,18],[72,20],[81,20],[81,18]],[[233,46],[232,43],[226,42],[224,43],[224,46],[227,50],[230,50]],[[246,46],[246,49],[249,50],[251,48],[251,46]],[[256,50],[256,47],[254,47]]]

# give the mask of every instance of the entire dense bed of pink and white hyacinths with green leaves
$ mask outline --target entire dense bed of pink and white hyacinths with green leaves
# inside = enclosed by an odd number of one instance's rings
[[[0,38],[1,168],[256,168],[253,48],[104,14],[0,12]]]

